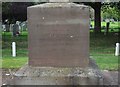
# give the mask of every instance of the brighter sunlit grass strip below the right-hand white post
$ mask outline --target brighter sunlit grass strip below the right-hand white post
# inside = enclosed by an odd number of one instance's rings
[[[103,70],[118,70],[118,57],[113,54],[97,55],[93,59],[97,62],[100,69]]]

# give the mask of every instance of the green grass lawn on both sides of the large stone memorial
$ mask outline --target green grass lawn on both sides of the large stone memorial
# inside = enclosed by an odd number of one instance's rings
[[[2,39],[2,68],[20,68],[28,61],[28,42],[27,32],[22,32],[19,37],[12,37],[11,33],[3,33]],[[17,44],[17,57],[11,56],[11,43]],[[96,60],[101,69],[118,70],[118,57],[114,56],[115,43],[118,42],[118,36],[115,33],[104,34],[90,33],[90,56]]]

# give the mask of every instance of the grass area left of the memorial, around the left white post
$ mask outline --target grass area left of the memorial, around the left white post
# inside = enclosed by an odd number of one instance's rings
[[[10,32],[2,33],[2,68],[20,68],[28,62],[28,32],[13,37]],[[17,56],[12,57],[11,44],[16,42]]]

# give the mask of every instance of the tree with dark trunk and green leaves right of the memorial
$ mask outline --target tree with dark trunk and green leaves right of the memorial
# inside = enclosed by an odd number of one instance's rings
[[[114,15],[114,17],[118,18],[120,20],[120,2],[83,2],[85,5],[89,5],[94,9],[95,13],[95,25],[94,25],[94,31],[96,33],[101,32],[101,8],[107,7],[106,5],[110,5],[111,8],[113,8],[113,11],[111,11],[111,15]],[[111,9],[107,8],[108,11]]]

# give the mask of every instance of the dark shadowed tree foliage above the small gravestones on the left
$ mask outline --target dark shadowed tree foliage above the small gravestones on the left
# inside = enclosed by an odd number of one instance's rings
[[[27,7],[34,5],[34,2],[3,2],[2,20],[8,19],[10,22],[27,20]]]

